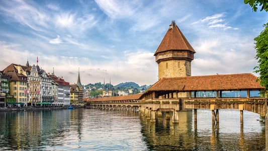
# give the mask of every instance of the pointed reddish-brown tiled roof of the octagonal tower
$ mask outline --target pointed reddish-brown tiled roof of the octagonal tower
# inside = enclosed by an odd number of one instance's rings
[[[174,21],[172,21],[172,23],[169,25],[169,29],[167,30],[154,55],[168,50],[190,50],[196,53],[194,48],[185,38],[184,34],[180,29],[178,29]]]

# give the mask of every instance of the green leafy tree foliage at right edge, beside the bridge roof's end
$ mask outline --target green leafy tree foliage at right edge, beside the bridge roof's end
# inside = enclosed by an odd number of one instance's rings
[[[254,38],[255,49],[256,49],[256,59],[258,60],[258,66],[254,72],[259,72],[260,85],[268,88],[268,23],[264,25],[265,29]]]

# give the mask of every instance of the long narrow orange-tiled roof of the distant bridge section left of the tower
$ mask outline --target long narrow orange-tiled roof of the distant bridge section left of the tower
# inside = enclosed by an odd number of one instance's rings
[[[107,97],[107,98],[97,98],[97,99],[84,99],[86,102],[96,102],[96,101],[123,101],[123,100],[138,100],[141,94],[128,95],[128,96],[117,96],[117,97]]]

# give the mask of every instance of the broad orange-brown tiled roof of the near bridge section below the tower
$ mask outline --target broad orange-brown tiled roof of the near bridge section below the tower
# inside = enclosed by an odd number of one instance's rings
[[[162,78],[149,91],[237,91],[264,90],[251,73]],[[146,92],[145,92],[146,93]]]

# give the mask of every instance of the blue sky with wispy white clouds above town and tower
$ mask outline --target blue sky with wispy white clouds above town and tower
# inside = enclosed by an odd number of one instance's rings
[[[171,21],[195,49],[192,75],[254,73],[267,12],[243,1],[0,0],[0,70],[37,64],[70,84],[158,81],[153,56]]]

